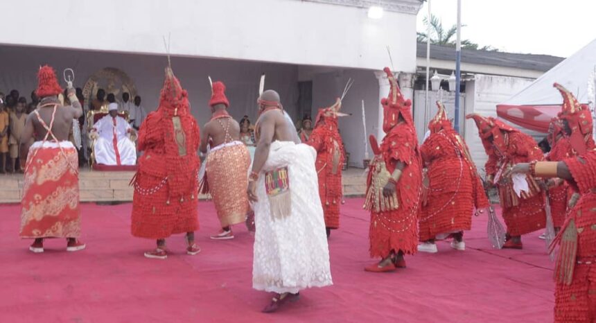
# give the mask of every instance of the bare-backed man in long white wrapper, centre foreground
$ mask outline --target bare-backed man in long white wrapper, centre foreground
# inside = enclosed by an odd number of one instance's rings
[[[274,292],[270,313],[296,301],[299,290],[333,284],[315,150],[300,143],[277,92],[258,98],[256,151],[247,193],[256,233],[252,286]]]

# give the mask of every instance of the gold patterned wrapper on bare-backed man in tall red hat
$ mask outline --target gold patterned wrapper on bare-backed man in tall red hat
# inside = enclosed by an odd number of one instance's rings
[[[241,141],[222,143],[211,149],[205,173],[209,193],[222,227],[244,222],[249,211],[246,188],[250,153]]]

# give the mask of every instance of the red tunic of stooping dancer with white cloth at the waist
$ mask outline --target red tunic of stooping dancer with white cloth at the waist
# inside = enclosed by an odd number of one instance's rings
[[[493,145],[489,148],[489,160],[485,166],[487,175],[494,177],[497,173],[505,172],[507,168],[515,164],[544,159],[536,141],[527,134],[519,131],[507,131],[501,132],[501,134],[504,137],[503,146],[497,148]],[[546,225],[544,192],[538,189],[533,180],[530,181],[532,195],[519,199],[513,193],[511,183],[497,184],[503,219],[507,225],[507,234],[510,236],[528,234],[543,229]]]

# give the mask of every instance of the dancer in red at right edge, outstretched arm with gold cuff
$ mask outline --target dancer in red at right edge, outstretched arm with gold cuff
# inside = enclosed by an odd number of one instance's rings
[[[559,245],[555,322],[596,322],[596,150],[563,161],[538,161],[514,166],[512,173],[559,177],[581,193],[551,245]]]

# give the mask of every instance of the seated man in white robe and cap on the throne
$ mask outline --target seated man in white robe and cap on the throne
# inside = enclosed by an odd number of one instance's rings
[[[103,165],[136,165],[137,148],[130,140],[134,129],[118,115],[118,104],[110,103],[109,114],[99,119],[91,129],[95,139],[95,162]]]

